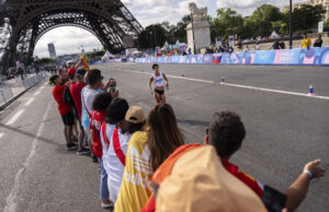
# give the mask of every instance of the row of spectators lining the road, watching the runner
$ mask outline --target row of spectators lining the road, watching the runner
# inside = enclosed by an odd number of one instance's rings
[[[321,161],[311,161],[285,191],[279,191],[230,162],[247,133],[238,114],[215,113],[200,141],[204,144],[185,144],[169,104],[145,114],[120,96],[115,79],[104,82],[100,70],[79,67],[60,69],[49,82],[67,150],[100,164],[104,209],[295,211],[310,181],[325,176]]]

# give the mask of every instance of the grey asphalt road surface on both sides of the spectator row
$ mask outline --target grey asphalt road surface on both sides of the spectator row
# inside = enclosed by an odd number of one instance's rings
[[[105,79],[116,78],[121,96],[131,105],[145,113],[155,105],[148,92],[150,64],[93,68],[101,69]],[[203,142],[215,111],[234,110],[246,125],[247,139],[232,162],[263,184],[284,191],[306,162],[322,158],[329,164],[329,68],[163,64],[160,69],[170,75],[168,103],[186,142]],[[230,84],[220,85],[222,76]],[[0,211],[102,211],[98,165],[65,150],[52,87],[43,83],[0,115]],[[324,98],[303,96],[309,84]],[[8,125],[16,114],[21,115]],[[329,176],[311,182],[298,211],[329,211]]]

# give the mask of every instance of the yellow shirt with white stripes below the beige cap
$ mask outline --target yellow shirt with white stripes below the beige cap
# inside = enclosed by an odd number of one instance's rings
[[[152,195],[147,133],[135,132],[126,153],[126,166],[115,203],[115,212],[138,212]]]

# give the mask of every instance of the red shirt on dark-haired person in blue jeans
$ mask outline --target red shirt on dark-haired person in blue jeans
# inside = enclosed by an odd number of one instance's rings
[[[101,127],[106,117],[106,110],[103,111],[93,111],[92,113],[92,118],[91,118],[91,130],[92,130],[92,150],[93,154],[101,158],[103,156],[103,148],[102,148],[102,142],[101,142]]]

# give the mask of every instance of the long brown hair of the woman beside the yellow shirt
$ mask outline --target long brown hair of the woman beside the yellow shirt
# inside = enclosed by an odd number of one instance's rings
[[[178,128],[172,107],[168,104],[154,107],[148,115],[147,125],[149,162],[156,170],[177,148],[184,144],[184,136]]]

